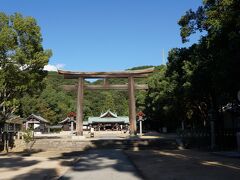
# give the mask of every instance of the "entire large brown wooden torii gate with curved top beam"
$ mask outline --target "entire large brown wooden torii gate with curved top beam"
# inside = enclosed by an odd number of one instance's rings
[[[76,131],[78,136],[83,135],[83,92],[86,90],[128,90],[129,98],[129,121],[130,121],[130,132],[136,134],[136,104],[135,104],[135,89],[146,90],[148,89],[147,84],[135,84],[134,78],[147,77],[154,71],[154,68],[142,69],[142,70],[131,70],[131,71],[116,71],[116,72],[73,72],[58,70],[59,74],[64,75],[65,79],[78,79],[78,84],[69,86],[70,89],[77,90],[77,120],[76,120]],[[102,85],[87,85],[84,84],[84,79],[89,78],[104,78]],[[111,85],[107,83],[108,78],[128,78],[127,84]]]

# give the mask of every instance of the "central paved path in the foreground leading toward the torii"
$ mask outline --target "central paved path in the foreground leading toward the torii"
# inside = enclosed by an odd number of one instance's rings
[[[101,149],[84,153],[60,179],[139,180],[139,173],[122,150]]]

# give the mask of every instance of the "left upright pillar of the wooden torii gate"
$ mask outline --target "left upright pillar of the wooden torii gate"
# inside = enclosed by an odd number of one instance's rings
[[[77,120],[76,120],[77,136],[83,135],[83,83],[84,83],[84,79],[82,77],[78,78]]]

